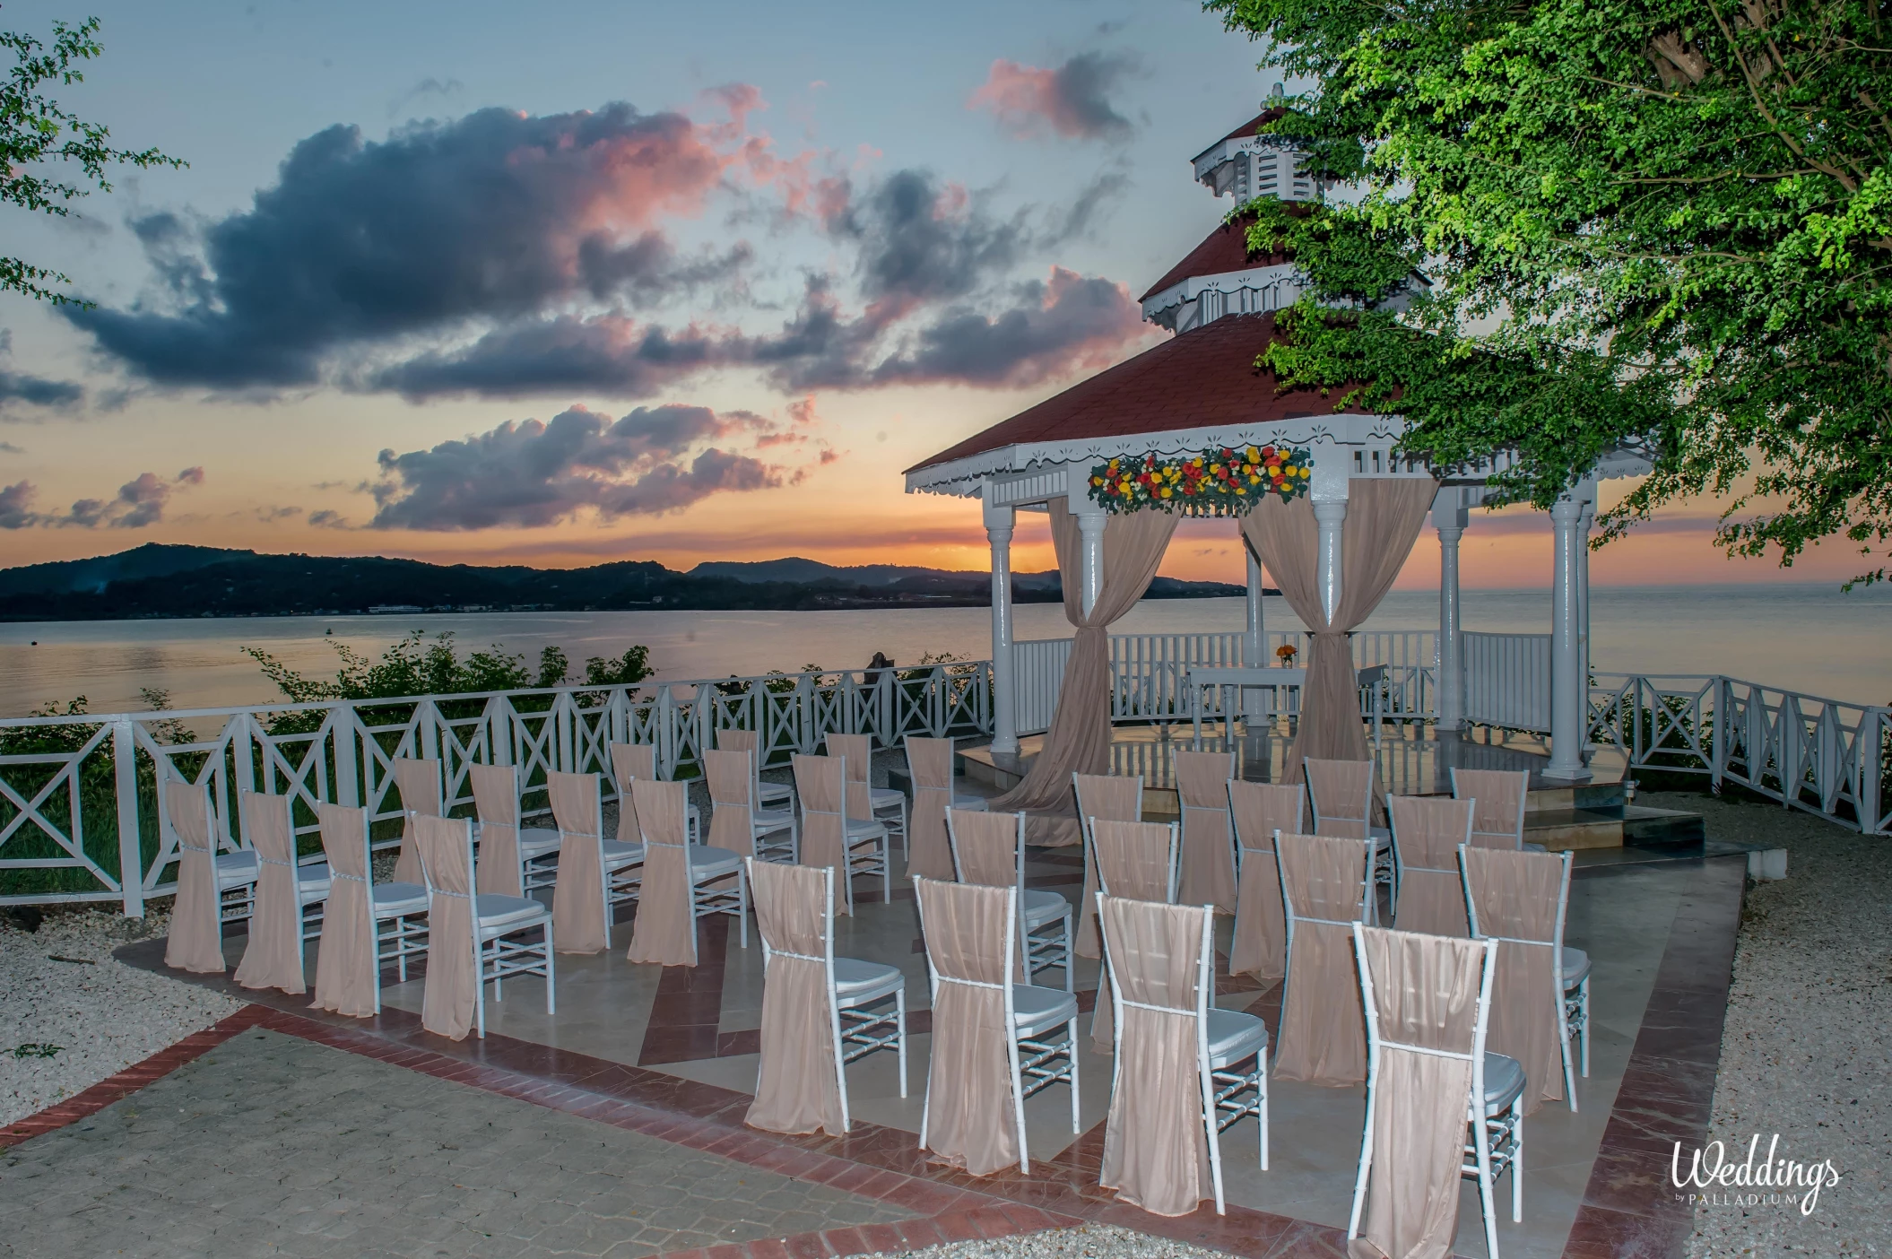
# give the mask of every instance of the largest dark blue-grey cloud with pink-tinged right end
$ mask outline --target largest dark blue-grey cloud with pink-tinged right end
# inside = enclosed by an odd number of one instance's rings
[[[537,316],[577,295],[641,299],[742,256],[679,259],[653,227],[694,210],[728,159],[681,114],[479,110],[384,142],[299,142],[252,208],[132,227],[165,299],[62,312],[163,384],[316,384],[358,343]]]

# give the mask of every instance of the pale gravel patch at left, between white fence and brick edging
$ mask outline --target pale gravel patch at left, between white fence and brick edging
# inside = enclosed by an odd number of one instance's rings
[[[161,909],[149,918],[49,911],[38,931],[0,920],[0,1123],[42,1111],[242,1009],[112,956],[127,941],[168,930]]]

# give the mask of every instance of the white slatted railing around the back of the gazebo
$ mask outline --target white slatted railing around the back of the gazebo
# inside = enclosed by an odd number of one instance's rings
[[[1379,710],[1389,719],[1423,719],[1436,716],[1434,685],[1438,682],[1436,640],[1432,630],[1362,630],[1353,634],[1353,663],[1357,668],[1385,665],[1387,676],[1379,687]],[[1190,716],[1188,670],[1198,666],[1243,665],[1243,634],[1112,634],[1111,636],[1111,719],[1112,721],[1182,721]],[[1275,649],[1292,646],[1298,661],[1305,661],[1307,634],[1300,630],[1271,630],[1266,634],[1264,659],[1275,661]],[[1037,638],[1012,644],[1014,718],[1020,735],[1037,735],[1050,727],[1058,710],[1058,689],[1063,685],[1065,661],[1071,655],[1069,638]],[[1285,714],[1300,712],[1300,691],[1281,693]],[[1207,697],[1205,716],[1220,714],[1220,695]],[[1360,716],[1374,714],[1374,691],[1362,689]]]

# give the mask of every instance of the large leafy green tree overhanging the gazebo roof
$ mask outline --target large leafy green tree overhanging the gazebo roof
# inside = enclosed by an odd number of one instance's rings
[[[1207,8],[1311,81],[1271,131],[1360,193],[1253,206],[1313,282],[1285,381],[1364,382],[1440,464],[1512,449],[1538,505],[1648,439],[1604,536],[1708,492],[1737,555],[1892,540],[1892,6]]]

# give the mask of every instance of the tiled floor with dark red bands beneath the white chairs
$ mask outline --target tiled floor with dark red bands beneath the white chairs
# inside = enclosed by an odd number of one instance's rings
[[[1595,1043],[1591,1077],[1578,1081],[1582,1109],[1546,1104],[1525,1123],[1525,1223],[1508,1219],[1498,1244],[1508,1257],[1673,1253],[1680,1221],[1663,1193],[1673,1140],[1701,1132],[1720,1045],[1720,1009],[1727,958],[1739,922],[1739,860],[1682,860],[1599,865],[1580,871],[1572,892],[1570,941],[1595,958]],[[1052,860],[1033,867],[1041,886],[1077,892],[1071,865]],[[619,945],[628,928],[619,928]],[[971,1179],[931,1166],[914,1149],[925,1081],[925,962],[916,952],[914,907],[863,903],[842,924],[842,952],[901,962],[908,973],[916,1019],[908,1098],[901,1100],[893,1056],[850,1068],[857,1128],[848,1138],[776,1138],[740,1128],[755,1079],[753,1028],[761,1005],[761,954],[744,952],[719,926],[706,928],[706,956],[723,966],[691,969],[632,966],[622,949],[594,958],[560,958],[558,1017],[549,1020],[535,981],[507,984],[507,1000],[488,1007],[488,1039],[450,1043],[418,1030],[418,981],[388,992],[390,1009],[377,1020],[341,1020],[310,1013],[305,998],[244,994],[307,1019],[278,1020],[284,1030],[380,1055],[416,1055],[445,1062],[422,1070],[458,1070],[477,1062],[488,1087],[532,1094],[541,1106],[585,1113],[604,1098],[651,1108],[657,1117],[683,1117],[683,1128],[708,1145],[730,1142],[753,1151],[806,1149],[872,1170],[899,1172],[940,1185],[1027,1202],[1069,1217],[1107,1219],[1239,1253],[1330,1253],[1340,1246],[1353,1181],[1362,1113],[1360,1089],[1273,1085],[1273,1170],[1260,1172],[1254,1128],[1224,1138],[1228,1217],[1211,1210],[1162,1221],[1111,1202],[1095,1185],[1101,1121],[1109,1100],[1109,1056],[1082,1060],[1080,1138],[1073,1138],[1069,1102],[1050,1089],[1027,1104],[1033,1176]],[[240,954],[242,941],[229,941]],[[157,966],[161,941],[121,952]],[[229,986],[227,979],[210,981]],[[1080,966],[1078,988],[1095,988],[1095,964]],[[1226,981],[1222,1005],[1251,1007],[1273,1022],[1279,990],[1256,992]],[[231,988],[235,992],[235,988]],[[329,1032],[327,1028],[335,1028]],[[1088,1030],[1088,1028],[1086,1028]],[[418,1058],[416,1058],[418,1060]],[[689,1125],[689,1121],[698,1121]],[[1599,1157],[1601,1151],[1601,1157]],[[846,1187],[846,1185],[844,1185]],[[1481,1255],[1476,1197],[1461,1200],[1457,1250]]]

